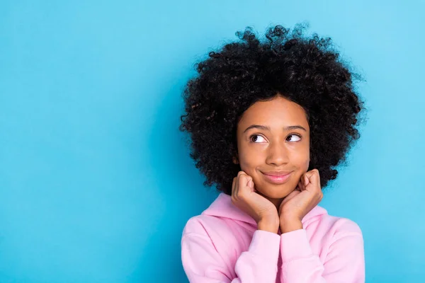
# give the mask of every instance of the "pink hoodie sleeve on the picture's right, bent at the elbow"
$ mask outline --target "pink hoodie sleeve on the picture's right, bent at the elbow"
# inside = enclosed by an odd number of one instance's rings
[[[346,221],[329,246],[322,264],[314,255],[305,229],[280,235],[281,282],[364,283],[365,260],[361,229]]]

